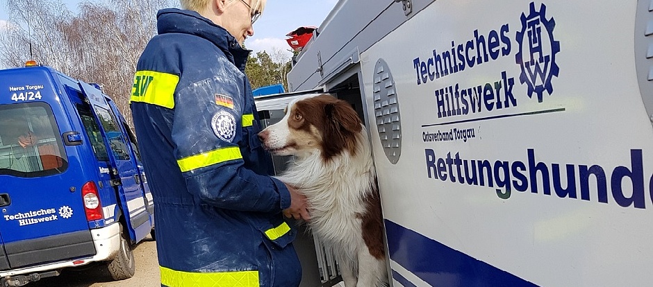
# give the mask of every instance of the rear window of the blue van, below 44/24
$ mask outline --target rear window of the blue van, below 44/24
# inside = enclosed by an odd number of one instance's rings
[[[67,157],[46,103],[0,105],[0,175],[38,177],[63,173]]]

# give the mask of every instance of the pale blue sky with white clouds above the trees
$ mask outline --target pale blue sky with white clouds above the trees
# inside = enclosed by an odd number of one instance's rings
[[[97,1],[97,0],[90,0]],[[63,0],[69,10],[76,12],[80,0]],[[336,6],[338,0],[267,0],[265,11],[254,24],[254,36],[245,41],[247,49],[274,53],[284,52],[288,59],[292,53],[286,42],[286,34],[300,26],[320,26]],[[0,29],[7,25],[8,12],[0,0]],[[152,15],[155,17],[155,15]]]

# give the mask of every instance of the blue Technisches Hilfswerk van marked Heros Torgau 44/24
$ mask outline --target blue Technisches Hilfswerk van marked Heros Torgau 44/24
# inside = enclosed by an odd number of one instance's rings
[[[134,134],[99,85],[0,70],[0,212],[0,286],[98,261],[133,276],[154,204]]]

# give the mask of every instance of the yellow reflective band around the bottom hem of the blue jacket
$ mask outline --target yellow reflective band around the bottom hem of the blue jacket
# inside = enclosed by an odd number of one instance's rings
[[[169,287],[258,287],[258,271],[184,272],[159,266],[161,284]]]

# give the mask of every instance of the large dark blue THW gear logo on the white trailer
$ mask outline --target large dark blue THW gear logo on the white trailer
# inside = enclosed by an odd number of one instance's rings
[[[546,9],[543,3],[537,11],[531,2],[529,15],[522,13],[522,30],[517,32],[519,53],[515,55],[522,69],[519,80],[528,86],[529,98],[533,98],[533,93],[538,95],[538,103],[542,103],[544,91],[549,96],[553,93],[551,80],[559,72],[556,53],[560,51],[560,42],[553,37],[556,21],[553,17],[547,20]]]

